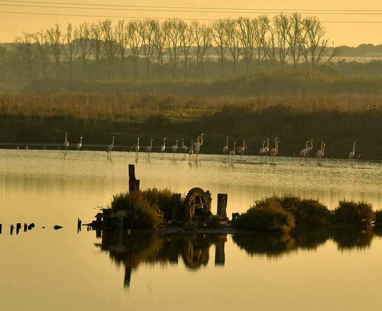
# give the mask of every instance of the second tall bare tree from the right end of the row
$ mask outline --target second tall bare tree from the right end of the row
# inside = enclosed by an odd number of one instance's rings
[[[301,14],[292,13],[289,17],[290,29],[287,33],[287,41],[290,47],[290,58],[296,69],[298,61],[303,57],[304,46],[306,42],[306,32]]]

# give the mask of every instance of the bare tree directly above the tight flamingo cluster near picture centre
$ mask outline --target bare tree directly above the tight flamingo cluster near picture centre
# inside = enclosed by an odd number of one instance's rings
[[[203,58],[206,54],[206,51],[210,48],[209,43],[211,42],[211,28],[205,24],[200,24],[197,20],[192,21],[191,27],[194,29],[193,35],[194,42],[196,44],[196,72],[197,79],[199,81],[200,69],[202,69],[203,78],[205,79],[203,70]]]

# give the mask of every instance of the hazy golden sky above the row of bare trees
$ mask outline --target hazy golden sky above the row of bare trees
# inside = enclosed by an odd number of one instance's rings
[[[249,0],[0,0],[0,42],[12,42],[22,32],[37,32],[55,23],[62,29],[68,22],[77,25],[106,18],[117,22],[118,19],[178,17],[209,23],[211,19],[240,15],[256,17],[267,13],[272,17],[281,11],[316,15],[325,25],[326,38],[331,45],[382,43],[382,1],[375,0],[274,0],[268,3]]]

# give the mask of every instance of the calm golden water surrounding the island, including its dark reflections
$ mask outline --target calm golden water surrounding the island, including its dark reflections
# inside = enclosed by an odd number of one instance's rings
[[[224,161],[181,153],[0,150],[2,309],[379,310],[379,232],[319,231],[288,239],[239,235],[127,237],[82,230],[112,195],[128,188],[228,194],[227,213],[272,194],[367,200],[381,209],[382,163],[259,157]],[[11,236],[10,224],[36,227]],[[54,225],[63,226],[55,231]],[[42,226],[45,226],[43,229]]]

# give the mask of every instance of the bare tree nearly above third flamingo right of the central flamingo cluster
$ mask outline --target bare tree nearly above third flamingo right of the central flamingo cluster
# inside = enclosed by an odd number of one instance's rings
[[[248,74],[255,54],[255,30],[254,21],[248,17],[239,17],[237,20],[239,28],[238,37],[241,46],[241,55],[245,62],[245,73]]]

